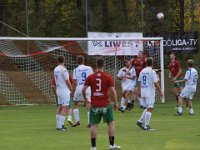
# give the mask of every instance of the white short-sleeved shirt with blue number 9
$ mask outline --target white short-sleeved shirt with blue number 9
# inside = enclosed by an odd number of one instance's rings
[[[93,73],[90,66],[79,65],[73,71],[73,79],[77,80],[77,86],[84,85],[86,78]]]

